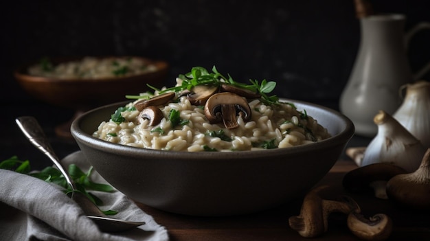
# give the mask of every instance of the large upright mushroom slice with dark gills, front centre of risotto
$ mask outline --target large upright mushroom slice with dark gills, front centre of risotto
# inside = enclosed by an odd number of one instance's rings
[[[248,121],[251,119],[251,108],[247,100],[234,93],[216,93],[205,104],[205,116],[210,123],[224,122],[226,128],[236,128],[239,126],[237,115]]]

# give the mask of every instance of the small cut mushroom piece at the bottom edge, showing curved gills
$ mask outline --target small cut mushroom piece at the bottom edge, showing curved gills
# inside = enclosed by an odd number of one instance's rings
[[[392,219],[385,214],[376,214],[367,219],[352,212],[346,222],[354,236],[363,240],[386,240],[393,231]]]

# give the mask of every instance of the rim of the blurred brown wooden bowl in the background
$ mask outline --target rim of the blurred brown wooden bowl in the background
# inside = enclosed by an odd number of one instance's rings
[[[164,60],[156,60],[151,58],[146,58],[143,56],[131,56],[131,55],[125,55],[125,56],[114,56],[114,55],[106,55],[106,56],[63,56],[63,57],[50,57],[52,62],[60,63],[60,62],[70,62],[73,60],[82,60],[86,57],[93,57],[93,58],[139,58],[143,60],[144,62],[152,65],[156,65],[157,69],[155,71],[148,71],[145,73],[140,73],[137,75],[131,75],[131,76],[117,76],[117,77],[104,77],[104,78],[54,78],[54,77],[45,77],[45,76],[34,76],[28,73],[27,69],[32,66],[36,65],[38,63],[37,60],[33,60],[31,62],[27,62],[23,65],[20,65],[19,67],[16,67],[14,70],[14,77],[19,81],[27,81],[27,82],[112,82],[117,80],[128,80],[128,79],[134,79],[134,78],[142,78],[144,76],[150,76],[155,73],[159,73],[162,71],[168,70],[168,62]]]

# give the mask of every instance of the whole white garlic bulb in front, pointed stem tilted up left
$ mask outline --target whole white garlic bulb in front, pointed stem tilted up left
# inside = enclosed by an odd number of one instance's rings
[[[361,166],[391,163],[407,172],[414,172],[420,166],[426,148],[385,111],[379,111],[374,122],[378,125],[378,133],[367,146]]]

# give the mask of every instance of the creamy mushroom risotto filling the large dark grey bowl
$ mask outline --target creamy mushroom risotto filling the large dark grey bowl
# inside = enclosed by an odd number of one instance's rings
[[[179,86],[181,80],[177,81]],[[192,95],[178,93],[170,93],[166,104],[154,102],[156,106],[142,107],[147,101],[136,100],[102,122],[93,136],[127,146],[189,152],[288,148],[330,137],[326,128],[294,104],[268,104],[239,95],[245,100],[241,107],[239,99],[229,100],[238,94],[215,89],[208,100],[197,104]],[[223,116],[229,115],[228,108],[233,110],[231,118]]]

